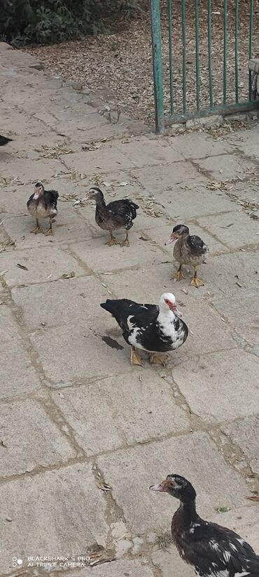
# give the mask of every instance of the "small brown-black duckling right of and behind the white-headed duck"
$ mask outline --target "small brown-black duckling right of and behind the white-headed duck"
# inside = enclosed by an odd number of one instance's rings
[[[174,274],[174,279],[177,281],[181,281],[184,279],[182,266],[183,265],[190,265],[194,267],[194,276],[193,279],[190,281],[190,284],[193,286],[203,286],[204,281],[197,277],[197,267],[204,263],[205,259],[209,255],[209,248],[204,241],[193,235],[190,237],[189,229],[185,225],[177,225],[173,228],[173,232],[169,240],[165,243],[170,244],[176,240],[176,244],[174,245],[174,258],[176,259],[177,263],[179,263],[179,269]]]

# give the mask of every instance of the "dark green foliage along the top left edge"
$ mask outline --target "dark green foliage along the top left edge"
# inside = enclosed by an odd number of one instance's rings
[[[13,46],[53,44],[109,32],[118,15],[131,18],[143,0],[1,0],[0,40]]]

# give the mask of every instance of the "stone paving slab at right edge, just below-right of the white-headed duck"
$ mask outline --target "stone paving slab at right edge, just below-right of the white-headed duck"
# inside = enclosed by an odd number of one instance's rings
[[[244,351],[240,354],[238,350],[224,349],[190,359],[173,371],[174,380],[190,409],[212,423],[259,411],[258,359]]]

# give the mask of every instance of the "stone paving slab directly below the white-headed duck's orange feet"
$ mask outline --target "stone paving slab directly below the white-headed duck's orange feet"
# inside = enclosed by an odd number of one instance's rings
[[[95,380],[63,390],[64,398],[58,392],[52,397],[88,455],[190,429],[172,387],[165,380],[161,383],[151,369]]]

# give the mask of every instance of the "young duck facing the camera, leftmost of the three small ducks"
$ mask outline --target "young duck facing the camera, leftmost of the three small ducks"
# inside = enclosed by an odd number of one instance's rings
[[[49,218],[50,225],[44,234],[54,234],[52,230],[52,219],[57,215],[57,199],[59,193],[57,190],[44,190],[43,184],[41,182],[36,183],[34,187],[34,194],[31,194],[27,202],[27,208],[31,216],[36,218],[36,228],[31,230],[35,234],[38,232],[43,232],[42,227],[39,225],[40,218]]]

